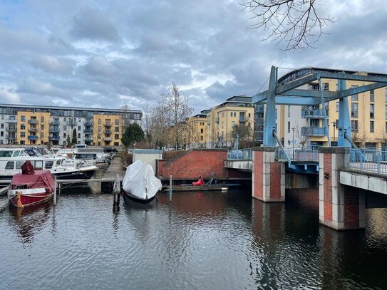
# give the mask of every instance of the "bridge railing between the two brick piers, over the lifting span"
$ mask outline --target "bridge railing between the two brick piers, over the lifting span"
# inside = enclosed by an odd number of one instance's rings
[[[282,162],[287,162],[287,156],[291,161],[314,161],[319,162],[319,146],[304,146],[287,148],[285,152],[276,149],[275,159]]]

